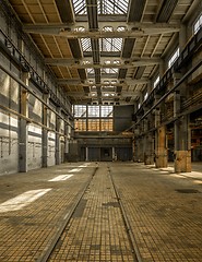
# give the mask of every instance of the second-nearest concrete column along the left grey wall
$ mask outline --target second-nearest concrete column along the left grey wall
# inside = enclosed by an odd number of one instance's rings
[[[44,100],[48,104],[49,103],[49,94],[44,94]],[[43,159],[41,159],[41,167],[48,166],[48,108],[43,105],[43,139],[41,139],[41,150],[43,150]]]

